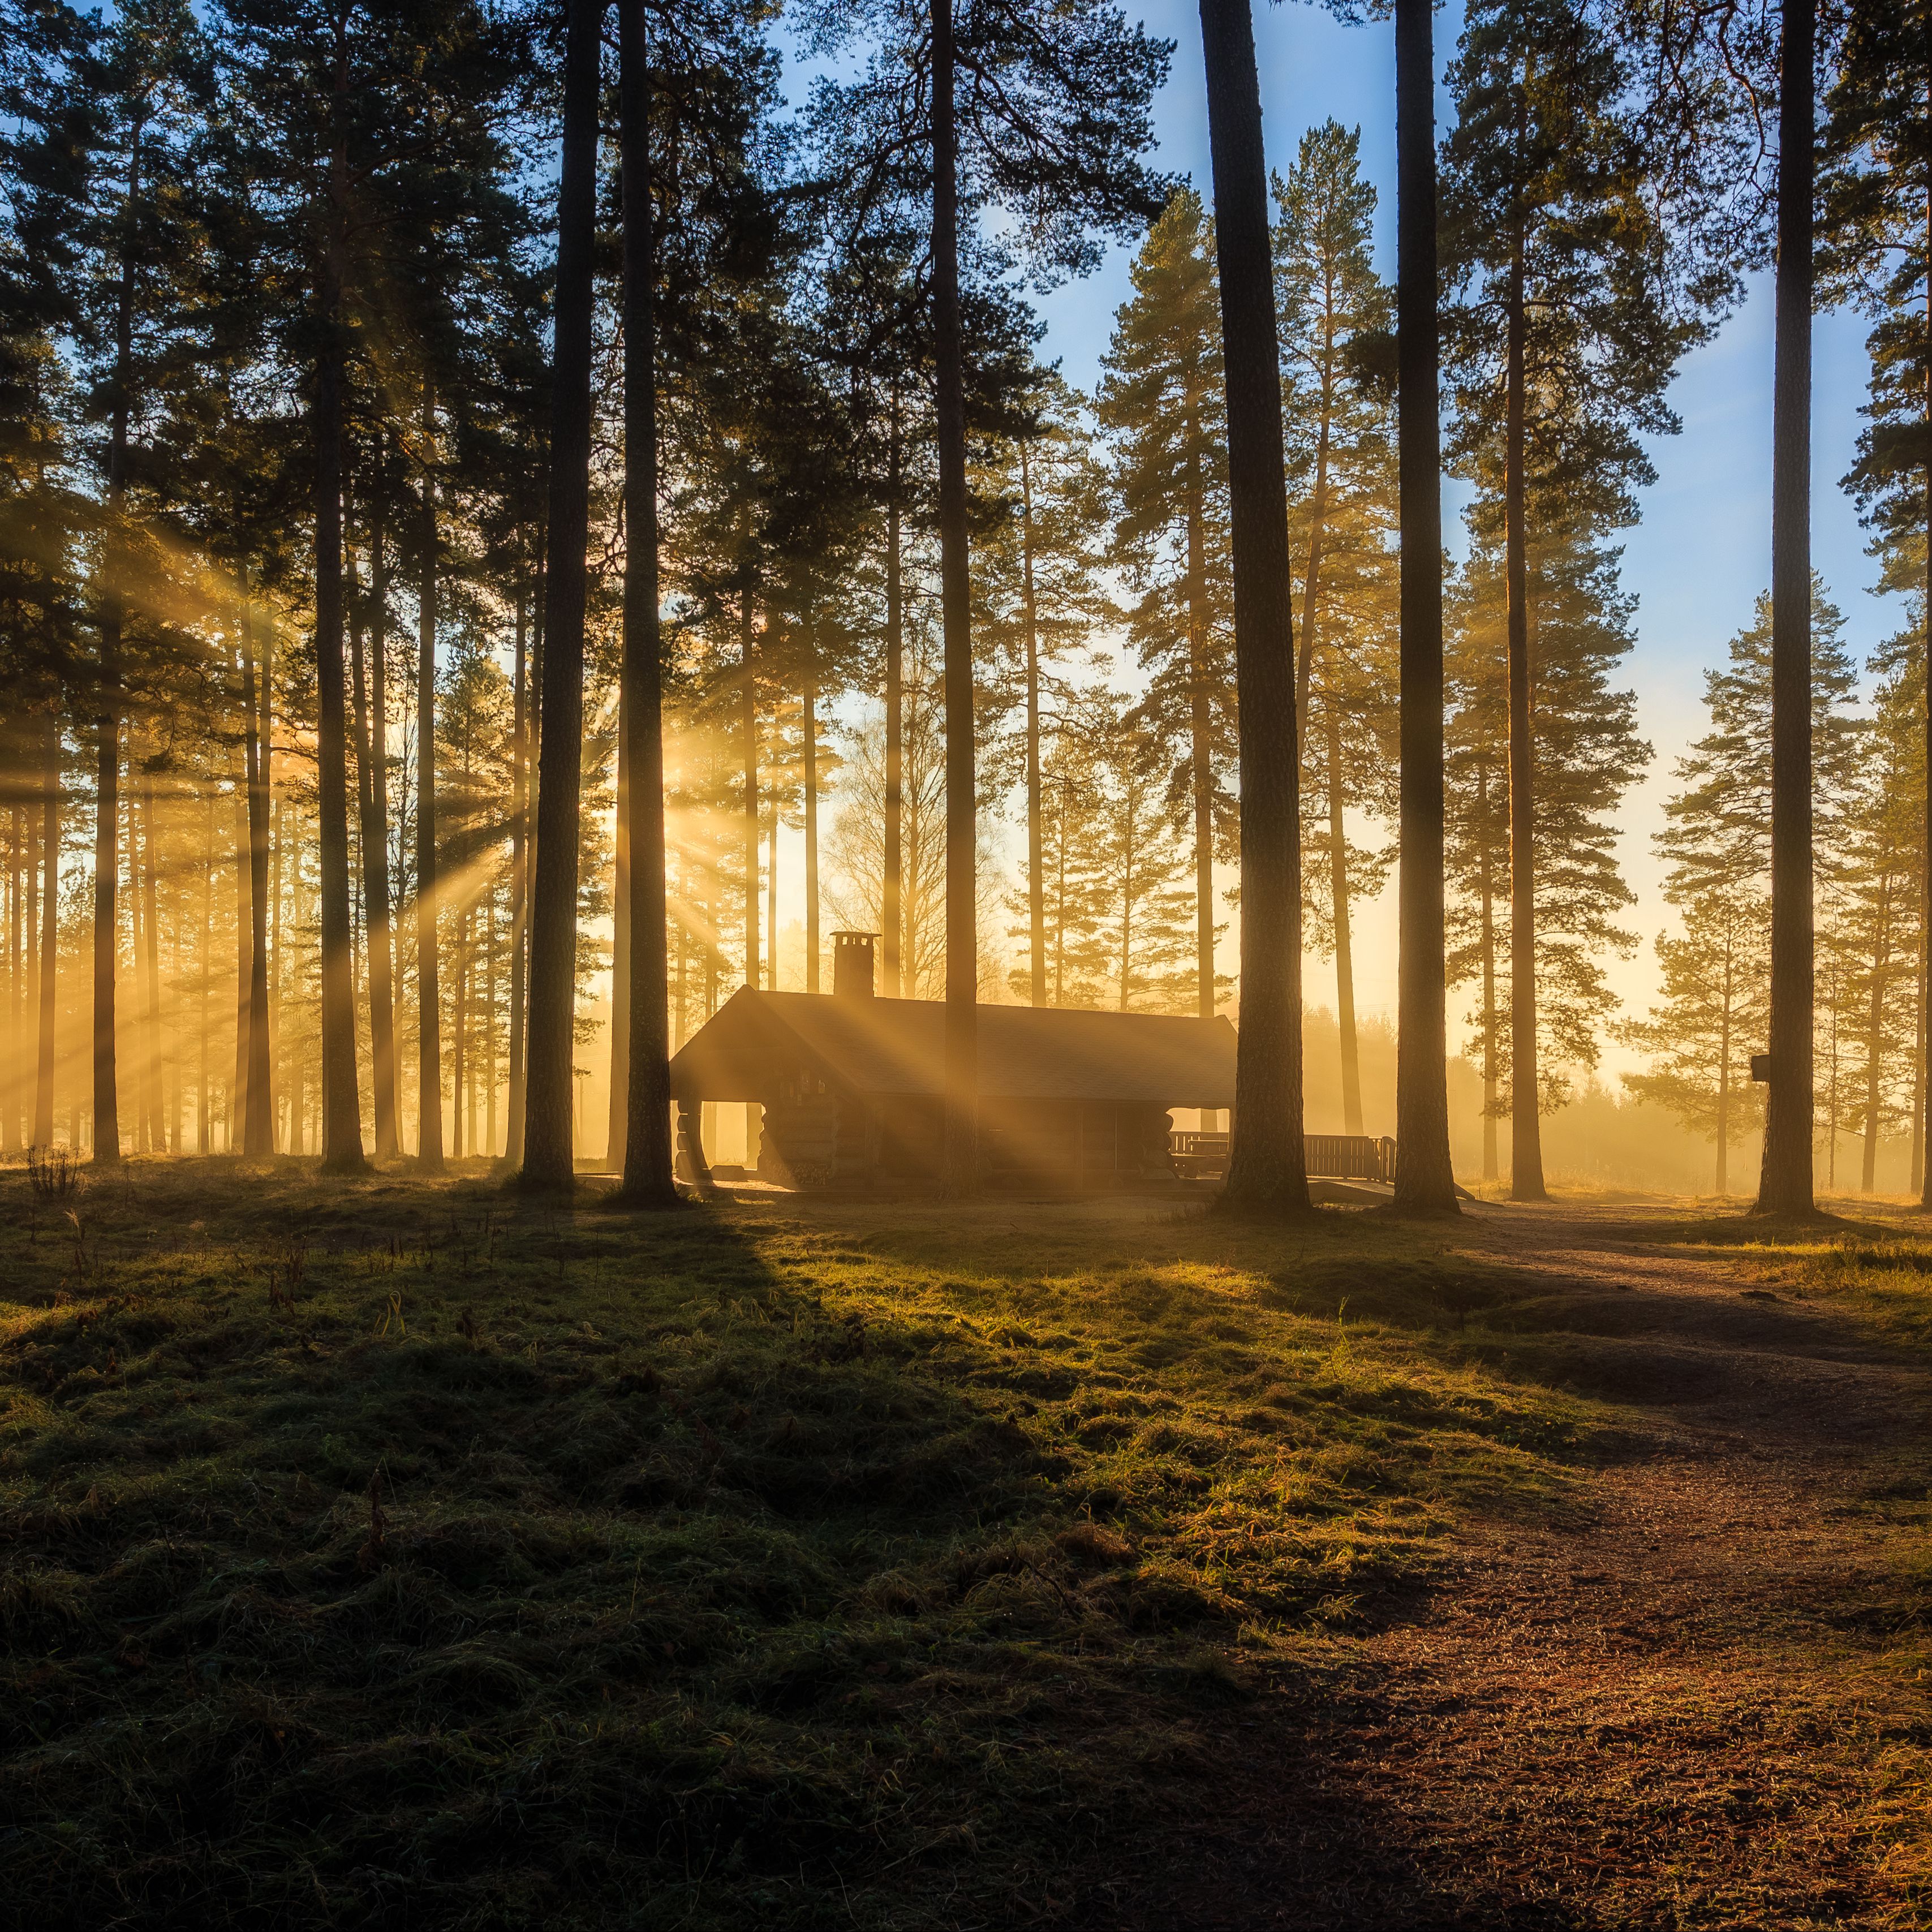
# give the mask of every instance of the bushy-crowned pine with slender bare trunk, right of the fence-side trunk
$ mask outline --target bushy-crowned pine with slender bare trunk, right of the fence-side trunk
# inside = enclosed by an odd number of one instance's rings
[[[1573,0],[1472,8],[1445,147],[1459,444],[1501,522],[1509,630],[1511,1194],[1544,1200],[1536,1072],[1536,763],[1530,518],[1588,537],[1634,520],[1671,431],[1663,390],[1702,332],[1646,195],[1609,35]],[[1499,518],[1497,518],[1499,512]]]

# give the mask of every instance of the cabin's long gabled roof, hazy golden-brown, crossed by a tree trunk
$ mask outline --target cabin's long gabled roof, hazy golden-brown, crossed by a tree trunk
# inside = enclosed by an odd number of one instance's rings
[[[670,1063],[680,1099],[761,1099],[804,1063],[856,1094],[941,1092],[945,1005],[740,987]],[[980,1007],[985,1099],[1233,1107],[1235,1028],[1150,1012]]]

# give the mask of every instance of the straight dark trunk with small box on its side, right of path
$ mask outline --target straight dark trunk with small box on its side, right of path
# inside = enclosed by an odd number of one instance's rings
[[[1816,0],[1785,0],[1772,402],[1772,1080],[1758,1213],[1812,1213],[1810,313]]]

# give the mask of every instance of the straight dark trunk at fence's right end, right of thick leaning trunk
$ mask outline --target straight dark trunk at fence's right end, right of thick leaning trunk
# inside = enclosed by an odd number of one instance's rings
[[[1430,0],[1395,0],[1397,427],[1403,781],[1395,1057],[1397,1213],[1457,1213],[1443,929],[1443,516]]]

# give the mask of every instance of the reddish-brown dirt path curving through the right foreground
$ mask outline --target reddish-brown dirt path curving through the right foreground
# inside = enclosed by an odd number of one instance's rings
[[[1932,1372],[1629,1209],[1470,1223],[1549,1277],[1526,1349],[1636,1416],[1588,1522],[1492,1528],[1339,1681],[1244,1710],[1082,1924],[1932,1924]]]

